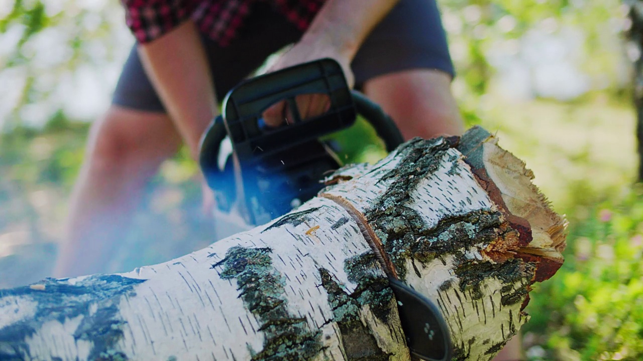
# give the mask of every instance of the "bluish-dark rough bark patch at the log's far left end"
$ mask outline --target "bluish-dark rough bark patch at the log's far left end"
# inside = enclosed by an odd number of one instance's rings
[[[37,304],[35,315],[0,329],[0,360],[30,358],[26,339],[48,321],[64,323],[82,316],[74,337],[92,342],[91,360],[127,360],[123,353],[114,351],[123,336],[125,321],[118,316],[118,304],[123,295],[134,295],[134,286],[144,279],[117,275],[89,276],[75,284],[69,279],[48,278],[37,284],[9,290],[0,290],[0,302],[8,296],[27,297]],[[95,312],[90,312],[90,307]],[[53,357],[54,355],[51,355]]]

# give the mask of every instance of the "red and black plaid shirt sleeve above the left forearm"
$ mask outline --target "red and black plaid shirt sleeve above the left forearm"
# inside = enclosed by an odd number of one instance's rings
[[[139,43],[150,42],[176,28],[194,12],[192,0],[122,0],[125,22]]]

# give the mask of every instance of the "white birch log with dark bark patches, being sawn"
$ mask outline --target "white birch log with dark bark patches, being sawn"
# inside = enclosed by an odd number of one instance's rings
[[[0,290],[0,360],[409,360],[387,274],[491,359],[561,265],[565,220],[473,128],[345,167],[319,197],[125,274]]]

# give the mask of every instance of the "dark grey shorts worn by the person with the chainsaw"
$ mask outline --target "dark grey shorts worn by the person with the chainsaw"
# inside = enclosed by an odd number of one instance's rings
[[[255,3],[237,37],[225,48],[202,36],[217,98],[250,75],[264,60],[300,39],[302,32],[266,3]],[[368,35],[351,64],[355,84],[408,69],[437,69],[453,76],[446,36],[435,0],[400,0]],[[113,103],[164,112],[141,65],[136,46],[125,62]]]

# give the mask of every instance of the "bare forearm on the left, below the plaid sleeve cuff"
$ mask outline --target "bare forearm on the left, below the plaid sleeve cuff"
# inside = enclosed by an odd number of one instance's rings
[[[199,140],[217,114],[208,60],[194,22],[188,20],[138,51],[145,71],[194,159]]]

